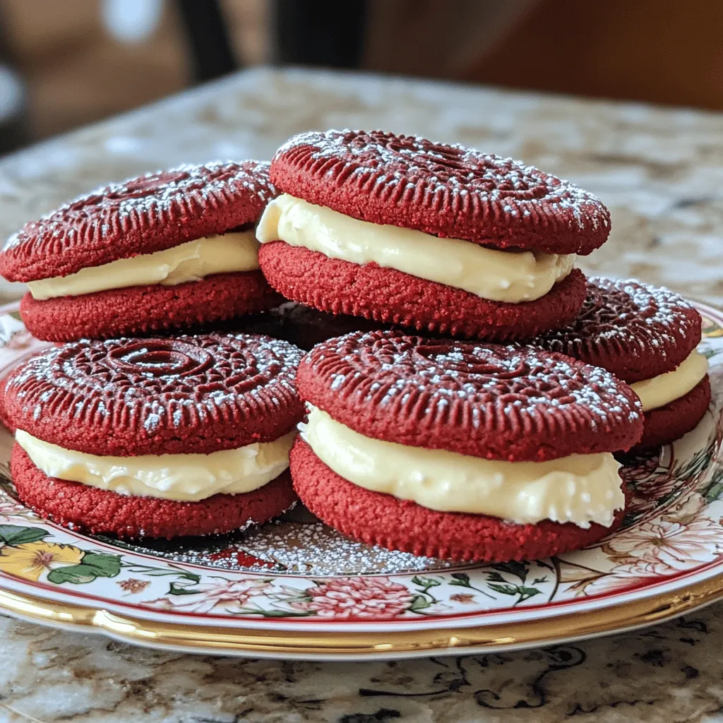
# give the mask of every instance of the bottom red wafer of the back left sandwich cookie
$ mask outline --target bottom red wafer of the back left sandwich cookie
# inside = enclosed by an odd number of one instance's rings
[[[74,341],[206,324],[262,312],[282,301],[256,270],[215,274],[178,286],[127,286],[46,301],[28,293],[22,297],[20,314],[36,338]]]

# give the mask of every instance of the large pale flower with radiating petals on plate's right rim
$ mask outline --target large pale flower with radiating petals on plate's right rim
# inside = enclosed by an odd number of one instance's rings
[[[660,570],[688,570],[718,557],[722,543],[723,527],[709,518],[687,525],[661,519],[613,536],[606,547],[613,555],[642,558]]]

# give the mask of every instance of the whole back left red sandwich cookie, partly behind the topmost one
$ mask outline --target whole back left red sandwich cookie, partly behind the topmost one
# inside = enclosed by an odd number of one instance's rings
[[[270,309],[253,224],[275,190],[268,163],[181,166],[98,189],[26,223],[0,252],[25,281],[40,339],[144,335]]]

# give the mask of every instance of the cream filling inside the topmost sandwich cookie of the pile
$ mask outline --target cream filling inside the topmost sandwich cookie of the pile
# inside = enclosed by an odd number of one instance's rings
[[[544,296],[575,263],[575,254],[497,251],[411,228],[358,221],[288,194],[266,207],[256,237],[262,244],[286,241],[333,259],[375,263],[510,304]]]

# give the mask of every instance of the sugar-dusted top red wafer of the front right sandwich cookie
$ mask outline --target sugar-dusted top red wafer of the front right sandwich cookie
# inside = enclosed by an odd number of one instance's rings
[[[541,349],[356,332],[315,346],[296,384],[362,435],[487,459],[627,449],[643,432],[627,385]]]

